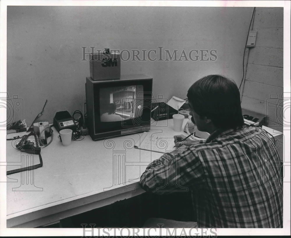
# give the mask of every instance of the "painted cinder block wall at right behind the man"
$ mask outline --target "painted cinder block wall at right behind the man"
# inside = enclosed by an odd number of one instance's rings
[[[267,115],[268,126],[282,131],[283,104],[268,102],[276,101],[271,95],[278,100],[283,97],[283,8],[256,8],[253,30],[257,38],[249,50],[242,107]],[[282,159],[283,140],[279,140]]]

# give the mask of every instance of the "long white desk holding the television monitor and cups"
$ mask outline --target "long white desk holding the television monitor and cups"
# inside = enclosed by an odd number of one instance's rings
[[[173,131],[172,119],[153,124],[150,132],[161,132],[164,137],[185,134]],[[56,223],[143,193],[139,178],[145,167],[162,154],[135,149],[140,136],[104,141],[85,136],[82,141],[63,146],[54,129],[52,143],[41,149],[41,168],[7,175],[7,227]],[[11,141],[7,141],[6,151],[8,164],[20,161],[20,152]]]

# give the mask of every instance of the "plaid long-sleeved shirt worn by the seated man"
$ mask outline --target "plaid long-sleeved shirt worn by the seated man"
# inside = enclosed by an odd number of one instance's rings
[[[141,175],[146,191],[190,189],[199,227],[282,228],[276,143],[260,128],[215,131],[181,154],[164,154]]]

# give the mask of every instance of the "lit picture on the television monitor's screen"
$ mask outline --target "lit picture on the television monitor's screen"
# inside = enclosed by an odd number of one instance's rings
[[[142,85],[100,89],[100,122],[116,122],[142,115],[143,101],[137,100],[137,95],[142,92]]]

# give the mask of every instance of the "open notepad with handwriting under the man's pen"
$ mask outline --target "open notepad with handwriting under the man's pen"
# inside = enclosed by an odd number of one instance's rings
[[[151,134],[149,132],[143,132],[140,139],[134,145],[134,148],[140,150],[150,150],[158,153],[170,153],[178,151],[175,147],[174,138],[165,138],[157,136],[157,134]]]

